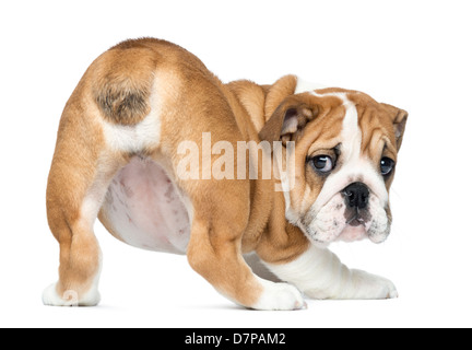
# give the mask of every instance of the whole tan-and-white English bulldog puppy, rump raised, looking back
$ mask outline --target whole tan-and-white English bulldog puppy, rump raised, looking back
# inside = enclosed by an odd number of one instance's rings
[[[110,48],[61,117],[47,186],[59,281],[44,303],[99,302],[96,218],[125,243],[187,255],[245,307],[304,308],[304,294],[396,298],[392,282],[349,269],[328,245],[388,237],[406,116],[295,75],[224,84],[165,40]],[[252,272],[251,252],[281,282]]]

